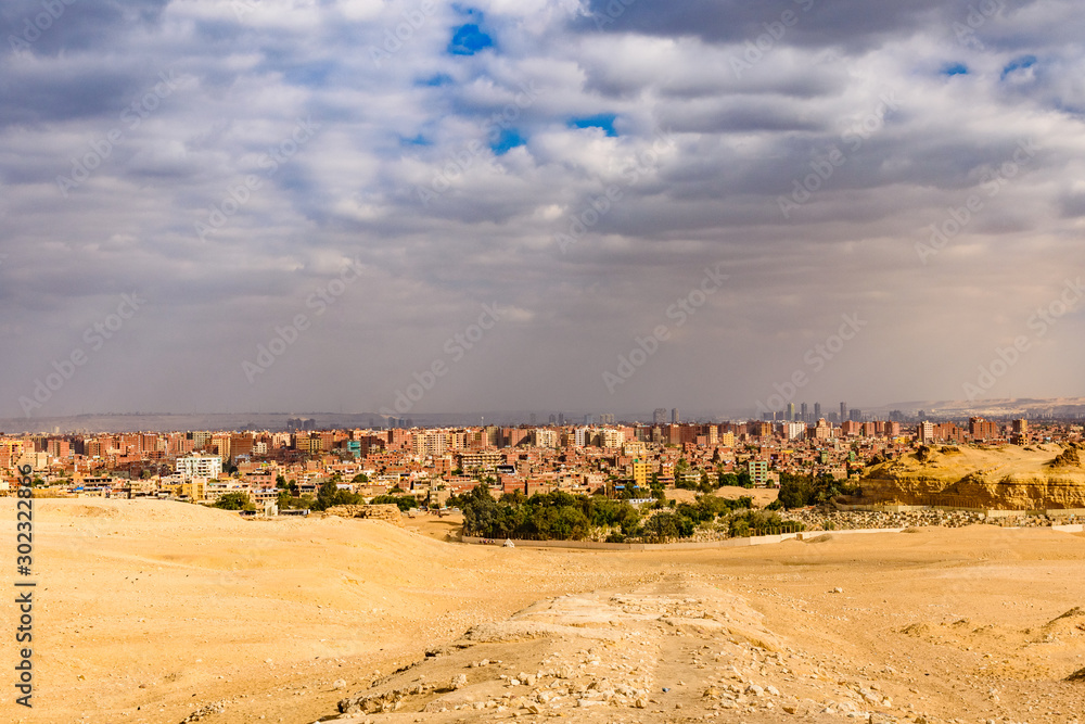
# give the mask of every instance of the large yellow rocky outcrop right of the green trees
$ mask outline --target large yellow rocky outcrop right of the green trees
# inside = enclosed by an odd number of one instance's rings
[[[859,482],[864,504],[1000,510],[1085,508],[1077,446],[920,447],[872,466]]]

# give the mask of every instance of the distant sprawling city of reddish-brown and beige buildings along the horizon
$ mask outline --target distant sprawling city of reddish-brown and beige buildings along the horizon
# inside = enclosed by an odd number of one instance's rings
[[[659,488],[774,486],[781,473],[846,480],[923,445],[1078,442],[1083,431],[1080,414],[937,420],[893,410],[868,419],[843,402],[822,412],[819,403],[802,403],[766,419],[725,422],[682,422],[678,408],[660,407],[651,422],[552,412],[545,421],[531,414],[521,425],[429,428],[390,418],[329,429],[293,417],[285,430],[0,433],[0,491],[14,490],[17,468],[28,467],[36,485],[58,495],[202,504],[240,493],[256,506],[289,507],[329,482],[432,507],[483,482],[501,493],[637,498]]]

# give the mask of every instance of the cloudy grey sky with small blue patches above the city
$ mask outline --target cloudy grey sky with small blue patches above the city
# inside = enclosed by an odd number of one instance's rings
[[[0,417],[1085,395],[1072,0],[8,0]]]

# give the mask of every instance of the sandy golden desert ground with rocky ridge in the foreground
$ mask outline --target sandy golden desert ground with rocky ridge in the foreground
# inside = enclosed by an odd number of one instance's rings
[[[4,722],[1085,720],[1081,534],[596,552],[448,543],[450,518],[36,505],[34,709],[5,685]]]

